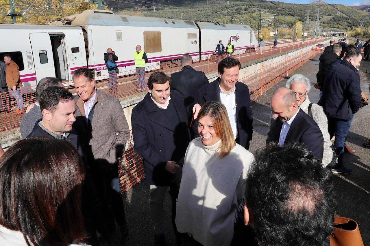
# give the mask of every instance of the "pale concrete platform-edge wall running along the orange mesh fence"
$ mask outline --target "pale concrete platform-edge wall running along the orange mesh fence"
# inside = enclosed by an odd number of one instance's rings
[[[324,43],[329,43],[330,39],[326,40]],[[248,76],[249,74],[252,74],[255,71],[258,71],[258,69],[261,68],[261,65],[269,65],[273,64],[282,60],[285,60],[287,56],[293,56],[296,54],[299,54],[301,51],[309,51],[312,48],[313,45],[310,45],[308,47],[302,47],[302,48],[296,48],[292,49],[290,51],[282,52],[270,57],[260,58],[256,59],[254,61],[245,62],[242,64],[242,68],[239,72],[239,78],[244,78]],[[216,78],[218,78],[218,72],[210,72],[206,74],[208,81],[212,82]],[[125,112],[125,116],[128,122],[128,126],[131,129],[131,110],[137,103],[139,103],[144,96],[147,94],[147,92],[142,92],[139,94],[127,96],[125,98],[120,99],[120,103],[122,105],[122,108]],[[4,133],[0,133],[0,144],[3,148],[9,147],[11,144],[15,143],[16,141],[21,139],[21,135],[19,132],[19,129],[14,129],[10,131],[6,131]]]

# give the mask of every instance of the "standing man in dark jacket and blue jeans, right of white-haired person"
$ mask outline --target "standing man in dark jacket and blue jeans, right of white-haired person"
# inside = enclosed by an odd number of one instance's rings
[[[322,98],[319,102],[328,118],[330,138],[335,136],[338,163],[332,169],[334,173],[351,173],[343,165],[344,143],[351,127],[354,113],[359,111],[361,103],[360,76],[356,67],[362,56],[358,49],[347,51],[342,62],[333,62],[326,72]]]

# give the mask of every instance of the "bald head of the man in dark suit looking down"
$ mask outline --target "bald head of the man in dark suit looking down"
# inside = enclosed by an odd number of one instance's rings
[[[291,119],[299,109],[295,93],[287,88],[277,89],[270,101],[271,111],[274,118],[282,122]]]

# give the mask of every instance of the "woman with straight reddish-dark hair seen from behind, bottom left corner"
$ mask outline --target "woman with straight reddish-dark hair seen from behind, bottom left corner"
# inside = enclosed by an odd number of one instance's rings
[[[85,245],[84,166],[65,140],[34,137],[0,158],[0,245]]]

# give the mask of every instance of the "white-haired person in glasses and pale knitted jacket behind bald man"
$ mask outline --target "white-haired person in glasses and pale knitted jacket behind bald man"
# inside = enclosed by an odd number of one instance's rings
[[[326,167],[330,164],[335,158],[333,156],[332,150],[332,141],[330,140],[329,132],[327,131],[327,117],[324,113],[324,110],[321,106],[317,105],[316,103],[311,103],[308,98],[308,92],[311,89],[310,80],[302,74],[295,74],[288,79],[285,84],[285,87],[288,89],[293,90],[296,94],[298,106],[309,116],[313,118],[313,120],[319,126],[323,137],[324,137],[324,153],[322,164]],[[271,115],[270,117],[270,126],[269,131],[267,133],[267,143],[273,141],[274,138],[274,126],[275,126],[275,119]]]

